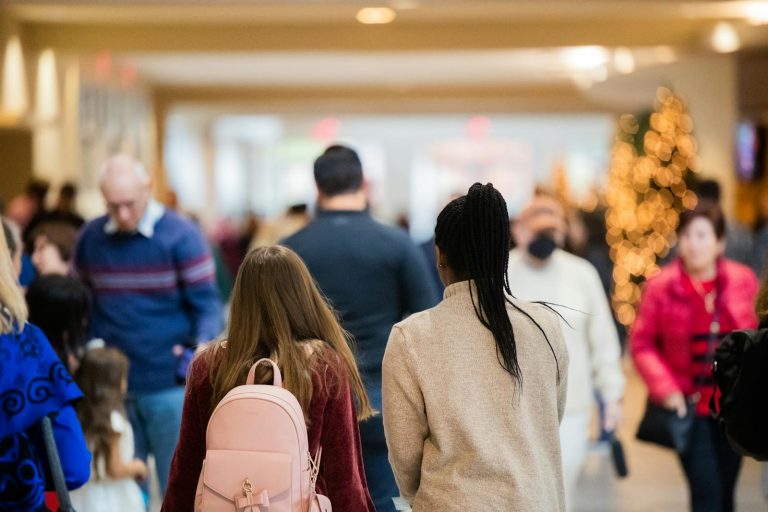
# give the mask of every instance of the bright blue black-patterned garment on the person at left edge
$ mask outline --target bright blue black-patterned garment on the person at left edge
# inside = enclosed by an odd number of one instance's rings
[[[88,481],[91,456],[72,403],[82,393],[37,327],[0,334],[0,512],[40,510],[51,482],[40,432],[50,415],[67,487]]]

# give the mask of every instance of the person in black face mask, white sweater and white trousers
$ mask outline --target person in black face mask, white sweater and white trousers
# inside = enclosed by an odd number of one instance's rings
[[[560,443],[566,505],[572,509],[587,454],[594,389],[605,402],[603,427],[613,432],[622,417],[625,379],[618,334],[600,277],[587,260],[561,249],[565,232],[562,206],[548,196],[534,197],[513,227],[517,247],[509,256],[508,275],[517,298],[550,303],[562,317],[571,364]]]

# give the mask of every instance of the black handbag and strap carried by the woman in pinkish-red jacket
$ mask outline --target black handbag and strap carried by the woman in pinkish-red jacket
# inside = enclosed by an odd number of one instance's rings
[[[720,331],[718,318],[719,315],[715,312],[707,344],[708,358],[713,357],[715,353],[717,337]],[[685,453],[688,451],[691,429],[693,429],[693,422],[696,420],[697,404],[698,399],[688,400],[685,416],[681,418],[677,415],[677,411],[670,411],[648,400],[645,414],[635,437],[639,441],[671,448],[680,454]]]

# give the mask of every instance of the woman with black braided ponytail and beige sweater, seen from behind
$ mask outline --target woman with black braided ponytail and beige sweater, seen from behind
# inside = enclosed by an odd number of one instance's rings
[[[507,206],[474,184],[435,228],[443,301],[395,325],[384,427],[401,496],[425,510],[565,510],[557,316],[512,297]]]

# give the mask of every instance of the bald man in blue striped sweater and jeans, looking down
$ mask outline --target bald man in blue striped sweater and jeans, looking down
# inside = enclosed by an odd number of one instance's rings
[[[154,455],[165,492],[188,356],[221,329],[213,260],[195,225],[152,198],[141,163],[114,156],[99,180],[107,215],[83,229],[75,267],[93,293],[92,334],[130,360],[136,455]]]

